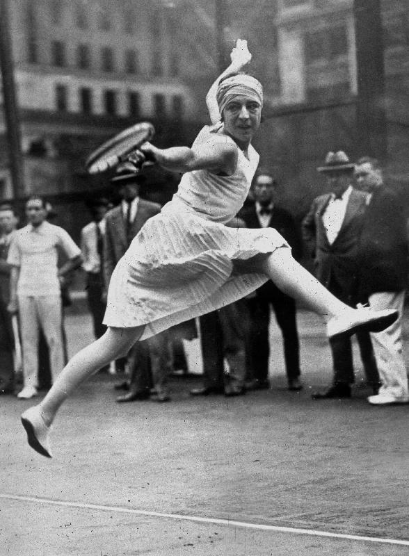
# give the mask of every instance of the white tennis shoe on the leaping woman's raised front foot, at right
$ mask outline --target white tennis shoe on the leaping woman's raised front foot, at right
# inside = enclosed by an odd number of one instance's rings
[[[346,314],[332,317],[327,322],[327,336],[352,336],[358,330],[367,332],[381,332],[390,327],[399,316],[396,309],[383,309],[374,311],[370,307],[358,306]]]

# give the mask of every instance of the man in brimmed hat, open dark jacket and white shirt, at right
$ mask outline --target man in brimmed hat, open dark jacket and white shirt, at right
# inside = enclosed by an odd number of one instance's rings
[[[318,171],[325,174],[330,193],[317,197],[303,220],[305,242],[312,247],[316,277],[343,302],[355,305],[358,272],[358,243],[362,231],[367,193],[353,188],[354,165],[342,151],[329,152]],[[374,351],[369,333],[357,334],[367,384],[379,386]],[[314,400],[350,398],[354,382],[351,339],[330,339],[334,378]]]

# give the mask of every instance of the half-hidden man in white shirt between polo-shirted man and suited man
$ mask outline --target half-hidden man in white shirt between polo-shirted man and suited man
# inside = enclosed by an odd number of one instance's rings
[[[93,199],[89,203],[93,221],[81,229],[82,268],[87,274],[88,307],[93,318],[95,338],[100,338],[106,330],[102,320],[106,309],[104,299],[104,236],[105,215],[108,207],[108,199],[103,197]]]

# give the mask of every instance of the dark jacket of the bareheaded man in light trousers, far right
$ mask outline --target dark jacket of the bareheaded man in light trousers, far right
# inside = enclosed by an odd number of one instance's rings
[[[401,291],[408,283],[406,216],[394,191],[380,187],[364,215],[360,239],[360,295]]]

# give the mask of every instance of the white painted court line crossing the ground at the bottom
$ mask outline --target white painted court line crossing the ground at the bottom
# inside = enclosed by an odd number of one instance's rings
[[[72,507],[79,509],[99,509],[102,512],[115,512],[117,514],[134,514],[138,516],[160,517],[177,519],[183,521],[193,521],[195,523],[214,523],[217,525],[228,525],[229,527],[241,527],[246,529],[258,529],[262,531],[276,531],[283,533],[307,534],[312,537],[330,537],[332,539],[348,539],[349,541],[365,541],[384,544],[399,544],[409,546],[409,541],[398,539],[383,539],[380,537],[363,537],[358,534],[330,533],[313,529],[299,529],[294,527],[280,527],[278,525],[263,525],[262,523],[246,523],[245,521],[233,521],[230,519],[219,519],[200,516],[185,516],[183,514],[162,514],[161,512],[148,512],[144,509],[124,508],[117,506],[102,506],[99,504],[82,504],[81,502],[67,502],[65,500],[50,500],[49,498],[36,498],[35,496],[18,496],[13,494],[1,494],[0,498],[6,500],[19,500],[21,502],[37,502],[52,506]]]

